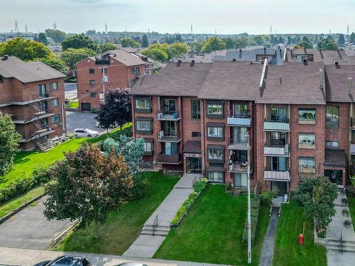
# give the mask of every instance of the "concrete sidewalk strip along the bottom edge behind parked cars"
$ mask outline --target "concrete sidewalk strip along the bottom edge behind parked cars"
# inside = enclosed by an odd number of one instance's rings
[[[90,253],[56,252],[48,250],[23,250],[17,248],[0,248],[0,265],[32,266],[43,260],[53,260],[60,255],[80,255],[87,257],[92,266],[111,266],[122,262],[143,262],[149,266],[216,266],[209,263],[180,262],[173,260],[149,260],[114,255]]]

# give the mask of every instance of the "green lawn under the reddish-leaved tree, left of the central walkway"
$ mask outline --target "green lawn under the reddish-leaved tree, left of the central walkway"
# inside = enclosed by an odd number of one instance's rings
[[[160,172],[144,172],[148,187],[139,199],[114,211],[101,226],[99,238],[94,238],[93,228],[77,228],[57,246],[56,250],[122,255],[141,233],[143,223],[168,196],[178,177],[164,176]]]

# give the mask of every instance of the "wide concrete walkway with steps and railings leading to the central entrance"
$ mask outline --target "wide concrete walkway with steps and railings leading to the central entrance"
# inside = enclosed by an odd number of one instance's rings
[[[133,242],[124,256],[153,257],[170,231],[178,209],[193,192],[192,182],[197,174],[184,174],[151,217],[144,223],[141,235]],[[154,235],[153,235],[154,229]]]

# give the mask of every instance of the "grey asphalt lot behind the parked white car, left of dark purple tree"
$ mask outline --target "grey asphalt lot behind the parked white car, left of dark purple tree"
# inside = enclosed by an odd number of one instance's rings
[[[72,132],[75,128],[89,128],[100,133],[105,132],[106,129],[97,128],[95,116],[97,115],[94,113],[67,111],[67,131]]]

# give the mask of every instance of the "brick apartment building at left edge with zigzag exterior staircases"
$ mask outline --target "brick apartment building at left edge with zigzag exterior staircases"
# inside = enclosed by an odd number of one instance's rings
[[[65,131],[64,77],[42,62],[0,57],[0,112],[11,114],[21,149],[45,150]]]

